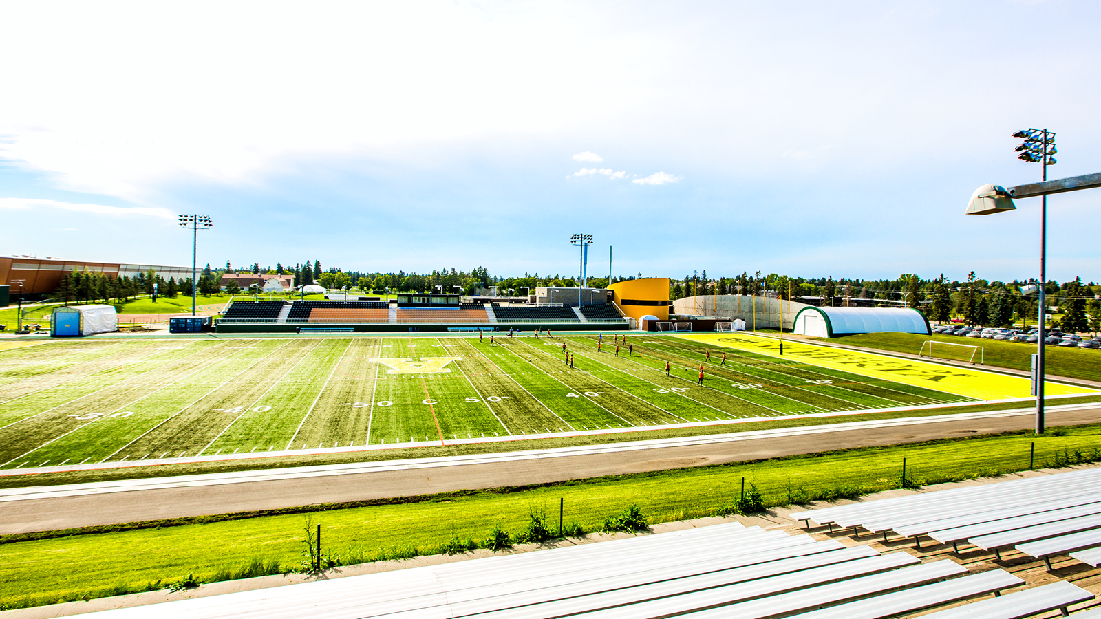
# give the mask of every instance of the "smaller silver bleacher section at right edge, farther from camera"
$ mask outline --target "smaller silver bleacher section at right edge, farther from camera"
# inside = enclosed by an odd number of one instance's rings
[[[960,543],[1040,558],[1101,562],[1101,469],[1086,469],[792,513],[819,525]]]

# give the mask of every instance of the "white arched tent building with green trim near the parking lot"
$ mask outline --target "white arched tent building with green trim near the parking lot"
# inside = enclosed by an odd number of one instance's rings
[[[810,337],[836,337],[855,333],[917,333],[928,335],[929,321],[917,310],[895,307],[806,306],[795,315],[792,329]]]

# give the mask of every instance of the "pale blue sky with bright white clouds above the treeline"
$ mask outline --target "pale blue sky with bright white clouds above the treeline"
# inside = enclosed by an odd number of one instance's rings
[[[1101,172],[1101,4],[0,1],[0,256],[1038,275]],[[1092,145],[1091,145],[1092,144]],[[1101,281],[1101,189],[1048,276]]]

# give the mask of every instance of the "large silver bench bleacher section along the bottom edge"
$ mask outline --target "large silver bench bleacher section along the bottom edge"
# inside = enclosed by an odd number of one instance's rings
[[[99,619],[586,619],[658,617],[1010,619],[1093,599],[1058,582],[1022,588],[1002,569],[971,573],[810,535],[738,523],[493,556],[96,613]],[[1092,611],[1073,617],[1088,619]]]

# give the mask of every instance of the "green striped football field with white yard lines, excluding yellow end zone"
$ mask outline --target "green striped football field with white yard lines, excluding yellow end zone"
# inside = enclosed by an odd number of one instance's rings
[[[683,338],[628,343],[495,334],[493,345],[488,336],[421,336],[10,348],[0,350],[0,467],[446,445],[972,401],[749,350],[727,349],[723,361],[715,347]]]

